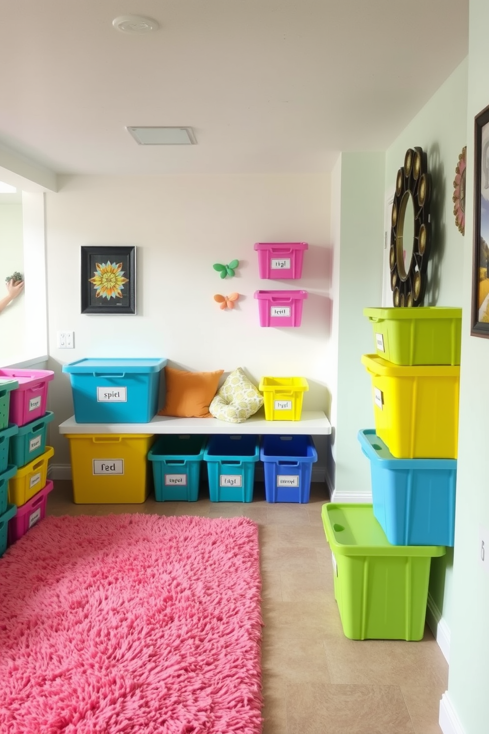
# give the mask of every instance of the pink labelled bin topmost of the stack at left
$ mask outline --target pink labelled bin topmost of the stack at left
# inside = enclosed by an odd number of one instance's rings
[[[0,369],[0,377],[10,377],[18,382],[18,388],[10,394],[10,423],[25,426],[45,414],[48,383],[54,378],[53,371],[5,368]]]

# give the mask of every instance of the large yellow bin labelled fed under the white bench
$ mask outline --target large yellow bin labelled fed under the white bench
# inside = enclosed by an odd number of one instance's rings
[[[147,453],[154,435],[67,434],[76,504],[140,504],[152,484]]]

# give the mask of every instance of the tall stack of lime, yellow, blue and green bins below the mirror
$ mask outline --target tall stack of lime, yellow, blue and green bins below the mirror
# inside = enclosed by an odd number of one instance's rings
[[[375,430],[359,432],[372,505],[323,509],[335,596],[352,639],[422,639],[430,559],[454,539],[462,313],[428,307],[364,314],[377,349],[361,358],[375,416]]]

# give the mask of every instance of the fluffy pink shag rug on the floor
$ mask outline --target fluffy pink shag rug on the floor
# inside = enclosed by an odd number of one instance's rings
[[[46,517],[0,559],[0,732],[257,734],[246,517]]]

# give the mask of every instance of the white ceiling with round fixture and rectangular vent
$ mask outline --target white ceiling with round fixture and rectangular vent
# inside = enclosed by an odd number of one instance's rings
[[[160,29],[114,29],[132,13]],[[468,0],[0,0],[0,145],[58,173],[323,172],[386,150],[467,52]]]

